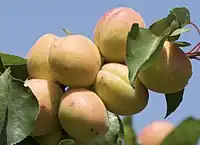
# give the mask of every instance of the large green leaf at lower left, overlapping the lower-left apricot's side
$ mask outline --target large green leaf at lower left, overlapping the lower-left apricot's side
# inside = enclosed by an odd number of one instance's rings
[[[30,135],[38,113],[39,105],[32,91],[23,82],[12,80],[8,104],[8,145]]]

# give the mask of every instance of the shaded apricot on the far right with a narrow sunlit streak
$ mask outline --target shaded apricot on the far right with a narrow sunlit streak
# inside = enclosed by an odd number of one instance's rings
[[[176,44],[166,41],[153,62],[138,77],[150,90],[174,93],[182,90],[192,76],[192,64]]]

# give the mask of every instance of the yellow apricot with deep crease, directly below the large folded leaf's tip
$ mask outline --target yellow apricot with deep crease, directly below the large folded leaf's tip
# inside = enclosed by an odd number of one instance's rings
[[[135,89],[128,79],[128,67],[119,63],[102,66],[94,83],[94,90],[104,102],[107,110],[118,115],[134,115],[148,103],[147,88],[137,78]]]

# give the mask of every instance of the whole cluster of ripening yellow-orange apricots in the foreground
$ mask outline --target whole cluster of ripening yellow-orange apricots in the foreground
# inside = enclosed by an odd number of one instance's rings
[[[126,40],[133,23],[146,27],[138,12],[118,7],[97,22],[93,41],[81,34],[48,33],[35,42],[26,56],[29,78],[25,81],[40,106],[32,136],[56,145],[63,129],[80,144],[89,144],[108,132],[108,111],[134,115],[147,106],[148,89],[172,93],[186,86],[191,62],[169,41],[131,86]],[[67,89],[62,90],[60,84]],[[157,134],[162,136],[161,132]],[[145,144],[147,138],[143,135],[140,141]]]

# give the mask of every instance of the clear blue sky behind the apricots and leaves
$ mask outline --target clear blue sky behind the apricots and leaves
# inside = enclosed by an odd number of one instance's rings
[[[170,9],[185,6],[191,12],[191,20],[200,27],[199,0],[20,0],[1,1],[0,5],[0,51],[25,57],[35,41],[44,33],[64,36],[62,28],[92,39],[98,19],[108,10],[127,6],[138,11],[149,26],[153,21],[167,16]],[[189,26],[191,27],[191,26]],[[191,27],[193,29],[193,27]],[[193,43],[200,41],[195,29],[181,37]],[[188,50],[188,49],[186,49]],[[184,100],[167,120],[178,124],[187,116],[200,118],[200,62],[192,60],[193,76],[186,87]],[[149,104],[134,117],[138,133],[144,125],[163,119],[166,111],[164,95],[150,92]]]

